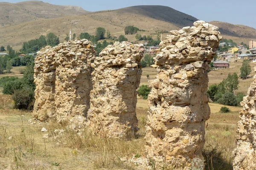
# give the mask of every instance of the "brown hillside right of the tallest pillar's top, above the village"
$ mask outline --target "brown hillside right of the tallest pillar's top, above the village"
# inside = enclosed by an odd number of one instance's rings
[[[244,25],[233,25],[230,23],[220,22],[220,21],[211,21],[211,24],[218,26],[221,34],[232,36],[232,37],[241,37],[241,38],[256,38],[256,29]],[[248,42],[247,42],[248,43]]]

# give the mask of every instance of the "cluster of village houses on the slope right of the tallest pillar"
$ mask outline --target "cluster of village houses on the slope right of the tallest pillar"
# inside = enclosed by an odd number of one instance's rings
[[[234,46],[230,42],[221,42],[219,48],[227,46]],[[215,69],[224,69],[230,67],[230,62],[237,62],[237,60],[250,59],[251,62],[256,62],[256,40],[249,41],[249,49],[245,45],[236,45],[228,48],[227,51],[218,52],[217,59],[213,59],[213,66]]]

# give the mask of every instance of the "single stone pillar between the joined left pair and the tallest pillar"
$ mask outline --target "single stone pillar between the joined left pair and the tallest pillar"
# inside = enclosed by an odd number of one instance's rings
[[[143,44],[115,42],[96,57],[88,128],[106,137],[128,137],[137,130],[136,103]]]

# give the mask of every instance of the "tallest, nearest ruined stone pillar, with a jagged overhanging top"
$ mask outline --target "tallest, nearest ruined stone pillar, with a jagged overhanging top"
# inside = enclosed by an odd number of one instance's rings
[[[150,164],[204,168],[205,121],[210,108],[207,70],[218,48],[218,27],[196,21],[170,31],[154,58],[158,74],[149,82],[146,152]]]

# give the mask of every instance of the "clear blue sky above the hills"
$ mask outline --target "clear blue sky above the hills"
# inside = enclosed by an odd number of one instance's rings
[[[7,0],[16,3],[23,0]],[[199,20],[218,20],[256,28],[256,0],[43,0],[55,5],[81,6],[87,11],[118,9],[137,5],[163,5]]]

